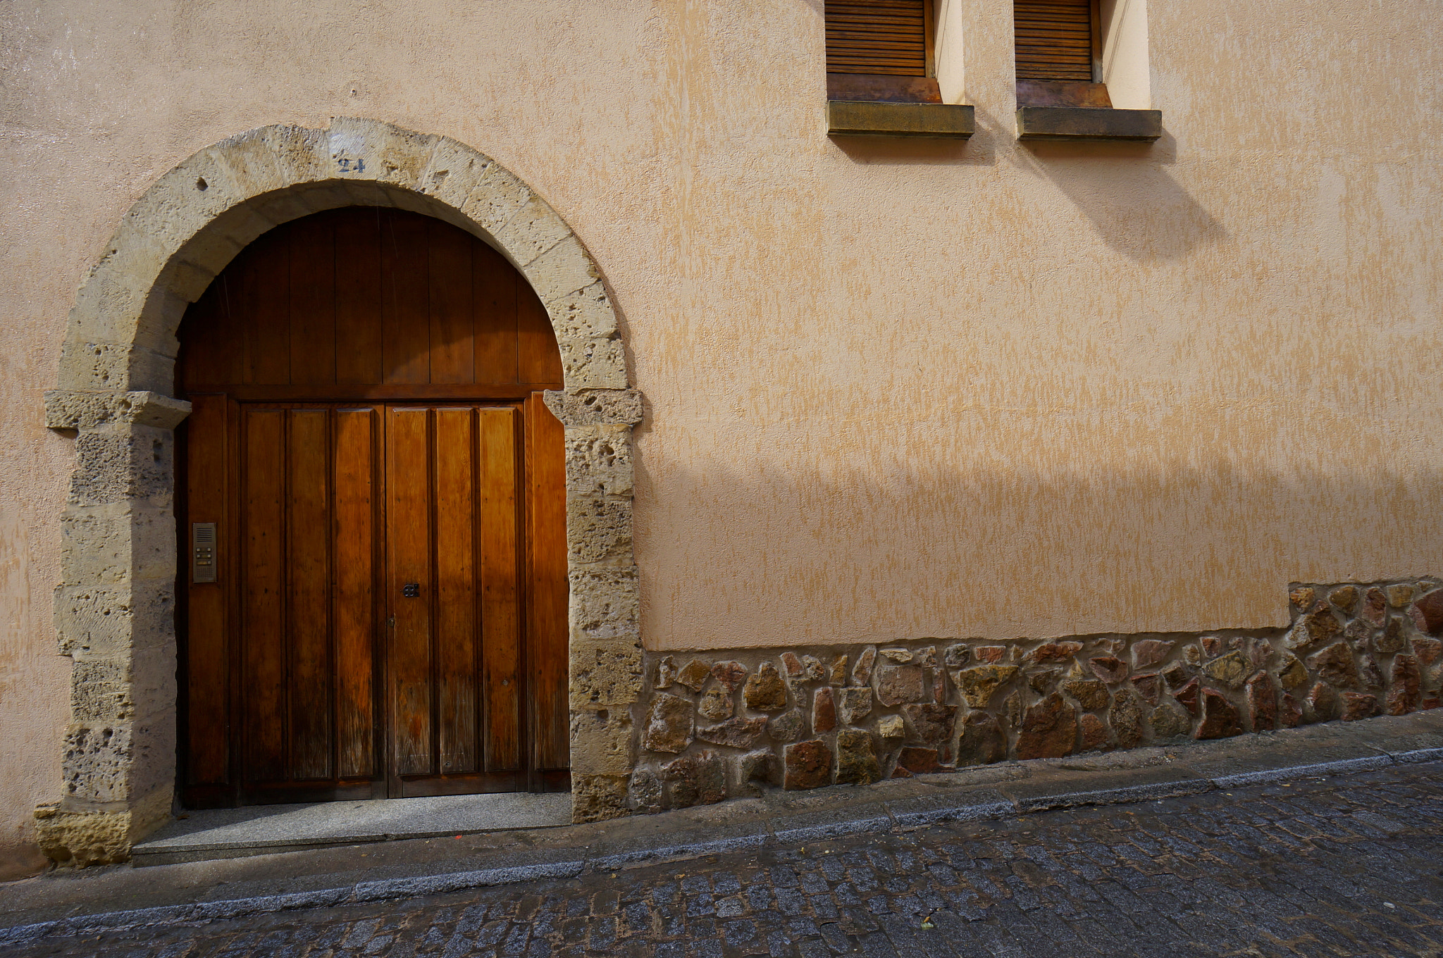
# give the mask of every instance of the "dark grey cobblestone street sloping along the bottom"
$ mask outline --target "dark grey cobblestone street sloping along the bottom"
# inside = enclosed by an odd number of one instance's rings
[[[1440,770],[929,825],[14,954],[1443,955]]]

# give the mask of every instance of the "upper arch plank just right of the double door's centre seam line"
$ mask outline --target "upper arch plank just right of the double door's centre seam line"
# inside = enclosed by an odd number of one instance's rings
[[[424,216],[381,222],[381,329],[384,382],[430,382],[430,268]]]

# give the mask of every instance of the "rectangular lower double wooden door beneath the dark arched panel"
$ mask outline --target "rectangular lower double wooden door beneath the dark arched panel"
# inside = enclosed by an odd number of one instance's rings
[[[540,394],[192,403],[193,804],[544,788],[558,609],[525,583],[564,570],[564,518],[525,508],[560,452]]]

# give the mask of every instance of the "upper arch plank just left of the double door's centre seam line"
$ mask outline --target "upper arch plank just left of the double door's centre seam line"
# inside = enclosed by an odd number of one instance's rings
[[[358,206],[336,216],[336,382],[382,382],[381,211]]]

